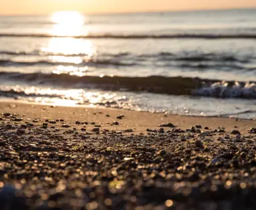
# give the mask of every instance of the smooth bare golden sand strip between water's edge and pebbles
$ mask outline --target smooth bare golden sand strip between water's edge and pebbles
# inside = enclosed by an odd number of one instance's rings
[[[159,128],[160,124],[167,122],[172,122],[176,128],[181,129],[188,129],[191,126],[201,124],[209,128],[216,126],[217,128],[226,128],[227,132],[231,132],[234,126],[237,126],[243,133],[246,133],[247,129],[253,126],[256,127],[256,121],[253,119],[237,119],[223,116],[185,116],[161,112],[125,110],[122,108],[106,108],[104,106],[58,106],[55,104],[38,104],[36,102],[31,103],[17,100],[0,100],[0,108],[2,113],[12,112],[20,116],[25,114],[29,118],[64,118],[69,122],[75,122],[76,120],[95,121],[105,126],[113,121],[119,121],[124,122],[124,124],[121,123],[118,128],[133,126],[139,132],[146,132],[146,129],[143,130],[146,127],[149,129]],[[66,113],[67,110],[70,112]],[[106,117],[106,114],[110,116]],[[122,120],[118,120],[116,118],[118,115],[124,115],[125,117]]]

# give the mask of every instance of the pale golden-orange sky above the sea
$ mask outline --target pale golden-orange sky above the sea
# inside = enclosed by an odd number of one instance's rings
[[[55,11],[130,13],[256,7],[256,0],[0,0],[1,15],[47,14]]]

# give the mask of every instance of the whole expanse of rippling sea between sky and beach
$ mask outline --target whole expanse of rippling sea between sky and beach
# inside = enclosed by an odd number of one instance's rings
[[[0,17],[0,97],[256,117],[256,9]]]

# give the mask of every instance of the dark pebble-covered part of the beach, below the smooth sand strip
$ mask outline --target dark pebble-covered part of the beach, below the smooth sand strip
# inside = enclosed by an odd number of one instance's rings
[[[0,124],[0,209],[255,209],[254,135],[26,126]]]

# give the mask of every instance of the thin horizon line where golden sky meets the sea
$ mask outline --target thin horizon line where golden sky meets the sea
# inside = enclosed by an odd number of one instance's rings
[[[96,12],[96,13],[82,13],[80,11],[77,11],[81,13],[82,15],[130,15],[130,14],[144,14],[144,13],[180,13],[180,12],[200,12],[200,11],[232,11],[232,10],[246,10],[246,9],[256,9],[256,7],[233,7],[233,8],[220,8],[220,9],[184,9],[184,10],[164,10],[164,11],[128,11],[128,12]],[[69,10],[59,10],[59,11],[69,11]],[[1,14],[0,16],[48,16],[52,15],[53,13],[59,12],[54,11],[52,13],[40,13],[40,14],[34,14],[34,13],[28,13],[28,14]],[[70,11],[76,11],[76,10],[70,10]]]

